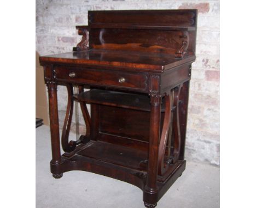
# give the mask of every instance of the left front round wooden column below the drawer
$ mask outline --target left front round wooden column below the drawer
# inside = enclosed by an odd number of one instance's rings
[[[60,132],[59,132],[59,117],[57,104],[57,85],[55,82],[48,82],[49,95],[49,115],[50,115],[50,130],[51,130],[51,151],[53,160],[51,164],[61,163],[60,154]]]

